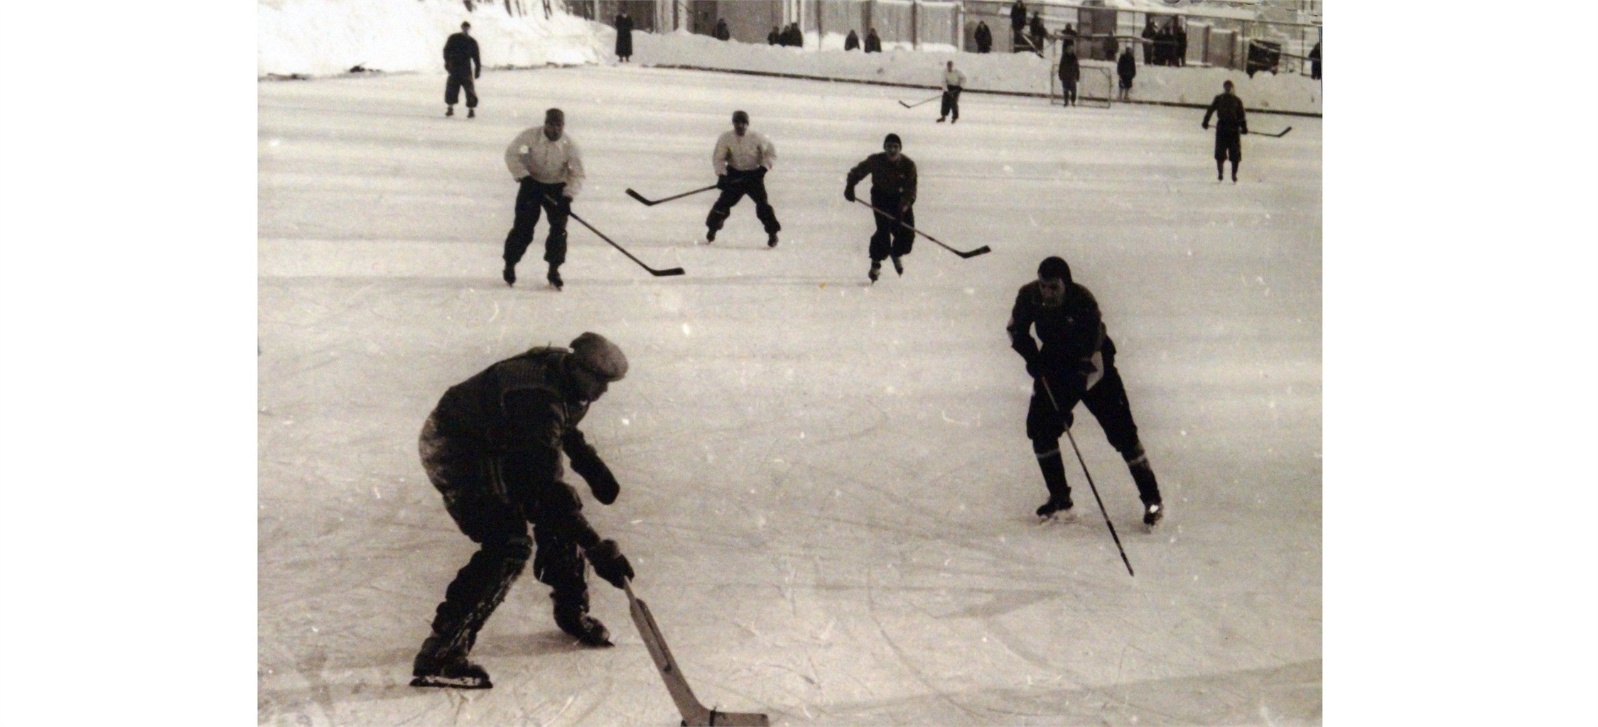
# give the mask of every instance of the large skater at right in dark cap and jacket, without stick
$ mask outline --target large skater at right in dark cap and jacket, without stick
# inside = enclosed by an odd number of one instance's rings
[[[1037,329],[1037,340],[1032,329]],[[1154,526],[1165,516],[1160,486],[1149,457],[1138,439],[1127,388],[1115,371],[1115,344],[1106,336],[1098,300],[1087,288],[1072,283],[1071,267],[1059,257],[1045,257],[1037,280],[1021,286],[1010,310],[1010,347],[1026,360],[1032,377],[1032,403],[1026,411],[1026,436],[1032,439],[1037,467],[1043,471],[1048,500],[1039,518],[1069,511],[1071,486],[1059,455],[1059,435],[1071,428],[1071,409],[1087,404],[1111,446],[1127,460],[1143,500],[1143,522]],[[1042,348],[1037,342],[1042,340]]]

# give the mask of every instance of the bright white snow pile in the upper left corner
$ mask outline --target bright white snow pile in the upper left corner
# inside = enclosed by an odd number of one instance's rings
[[[457,0],[259,0],[256,75],[329,75],[368,70],[444,72],[444,40],[471,21],[483,64],[575,66],[610,58],[593,27],[556,11],[507,14],[503,5]]]

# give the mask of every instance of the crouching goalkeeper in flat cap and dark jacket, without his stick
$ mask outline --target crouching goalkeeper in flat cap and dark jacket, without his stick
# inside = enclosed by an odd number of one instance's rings
[[[489,366],[451,387],[427,417],[422,467],[479,550],[438,604],[412,687],[492,687],[467,655],[529,558],[532,575],[553,588],[555,623],[585,646],[610,646],[609,631],[588,615],[586,564],[617,588],[633,567],[583,518],[577,491],[561,479],[561,452],[596,500],[615,502],[620,486],[577,423],[623,375],[622,350],[585,332],[570,350],[539,347]]]

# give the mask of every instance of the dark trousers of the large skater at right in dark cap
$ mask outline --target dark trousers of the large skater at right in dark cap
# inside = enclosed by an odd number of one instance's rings
[[[1077,406],[1077,401],[1087,404],[1088,412],[1104,430],[1104,438],[1120,452],[1122,459],[1128,463],[1143,459],[1138,422],[1131,419],[1131,403],[1127,401],[1127,387],[1120,380],[1120,371],[1115,369],[1114,356],[1104,358],[1104,377],[1087,391],[1082,390],[1082,375],[1072,372],[1045,372],[1047,390],[1042,379],[1032,382],[1032,401],[1026,409],[1026,438],[1032,439],[1032,451],[1039,454],[1039,459],[1045,452],[1059,449],[1059,436],[1071,427],[1074,420],[1071,409]],[[1055,409],[1056,403],[1059,409]],[[1160,489],[1152,473],[1144,476],[1138,470],[1146,471],[1147,462],[1135,467],[1133,481],[1138,484],[1138,497],[1146,503],[1160,502]]]

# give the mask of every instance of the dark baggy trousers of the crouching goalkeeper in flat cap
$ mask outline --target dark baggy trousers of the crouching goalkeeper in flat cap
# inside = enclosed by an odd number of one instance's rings
[[[553,588],[555,609],[588,610],[586,561],[577,543],[537,522],[527,537],[529,513],[505,495],[503,459],[463,451],[438,433],[428,417],[422,425],[422,467],[444,497],[444,510],[460,532],[481,548],[444,590],[433,617],[433,633],[447,639],[452,654],[471,650],[478,631],[505,601],[532,553],[532,574]]]

